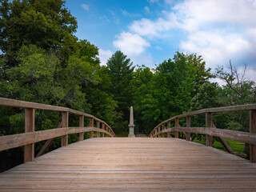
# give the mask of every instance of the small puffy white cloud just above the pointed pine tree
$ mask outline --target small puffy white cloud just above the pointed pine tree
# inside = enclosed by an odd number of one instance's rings
[[[150,43],[146,42],[146,40],[138,34],[122,32],[118,34],[117,38],[118,39],[113,42],[114,46],[128,55],[141,54],[147,46],[150,46]]]

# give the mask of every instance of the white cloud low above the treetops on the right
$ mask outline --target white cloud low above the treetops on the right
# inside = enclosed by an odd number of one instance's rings
[[[230,59],[238,57],[238,53],[250,52],[251,46],[239,34],[218,34],[218,32],[197,31],[188,36],[187,41],[180,44],[182,51],[198,53],[214,68],[225,65]]]

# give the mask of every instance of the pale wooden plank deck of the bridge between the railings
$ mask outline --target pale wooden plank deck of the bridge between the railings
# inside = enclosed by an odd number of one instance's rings
[[[90,138],[0,174],[0,191],[256,191],[256,166],[175,138]]]

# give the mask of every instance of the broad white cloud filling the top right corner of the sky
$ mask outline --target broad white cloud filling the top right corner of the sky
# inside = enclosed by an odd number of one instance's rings
[[[213,23],[228,23],[239,26],[255,26],[254,2],[252,1],[230,1],[230,0],[186,0],[174,6],[178,18],[186,26],[190,22],[203,28]],[[190,30],[189,28],[187,30]]]

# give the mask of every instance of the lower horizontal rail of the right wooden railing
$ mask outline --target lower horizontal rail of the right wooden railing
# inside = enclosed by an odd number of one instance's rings
[[[256,134],[246,133],[235,130],[222,130],[218,128],[206,128],[206,127],[173,127],[164,130],[165,133],[175,130],[186,131],[194,134],[209,134],[220,138],[229,138],[238,142],[245,142],[248,144],[256,145]],[[157,136],[156,134],[154,136]]]

